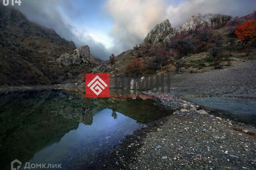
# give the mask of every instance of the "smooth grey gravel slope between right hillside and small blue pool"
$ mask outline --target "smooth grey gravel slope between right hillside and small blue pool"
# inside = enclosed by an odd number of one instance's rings
[[[256,62],[195,74],[171,77],[171,94],[176,96],[221,96],[256,99]]]

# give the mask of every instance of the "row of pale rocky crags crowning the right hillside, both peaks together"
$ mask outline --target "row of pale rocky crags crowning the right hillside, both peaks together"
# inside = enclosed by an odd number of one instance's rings
[[[144,44],[156,44],[160,42],[170,41],[170,38],[181,33],[182,31],[188,31],[191,29],[203,29],[205,27],[220,27],[224,26],[227,21],[231,19],[230,16],[220,14],[196,14],[191,16],[180,28],[172,27],[169,20],[165,20],[162,23],[157,24],[144,39]]]

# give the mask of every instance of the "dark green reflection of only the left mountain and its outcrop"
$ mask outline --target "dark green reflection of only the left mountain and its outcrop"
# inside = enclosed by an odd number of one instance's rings
[[[19,90],[0,96],[0,164],[7,169],[12,160],[27,161],[60,141],[78,122],[92,124],[94,110],[61,90]]]

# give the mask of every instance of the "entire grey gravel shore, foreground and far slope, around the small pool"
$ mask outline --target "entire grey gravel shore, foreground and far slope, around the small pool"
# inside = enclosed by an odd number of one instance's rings
[[[171,78],[170,115],[149,123],[106,153],[102,169],[256,169],[256,128],[210,115],[175,96],[256,99],[256,62]],[[172,114],[173,113],[173,114]]]

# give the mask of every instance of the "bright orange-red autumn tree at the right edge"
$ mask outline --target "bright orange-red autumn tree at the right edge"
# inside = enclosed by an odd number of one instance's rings
[[[249,20],[242,25],[238,25],[235,34],[242,41],[243,49],[245,49],[249,41],[256,40],[256,21]]]

